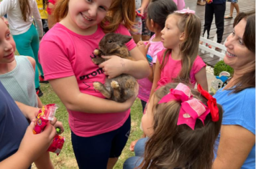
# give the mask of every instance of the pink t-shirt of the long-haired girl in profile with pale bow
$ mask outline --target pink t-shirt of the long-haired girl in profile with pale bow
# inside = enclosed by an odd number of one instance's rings
[[[162,64],[163,54],[165,50],[159,52],[157,54],[157,59],[160,64]],[[195,87],[196,77],[195,75],[203,68],[206,67],[203,59],[197,56],[195,61],[193,62],[193,66],[190,74],[190,82]],[[180,70],[182,68],[181,60],[174,60],[172,55],[168,57],[168,62],[165,64],[165,67],[161,70],[160,79],[157,82],[157,89],[165,84],[172,82],[172,79],[178,77],[180,74]]]

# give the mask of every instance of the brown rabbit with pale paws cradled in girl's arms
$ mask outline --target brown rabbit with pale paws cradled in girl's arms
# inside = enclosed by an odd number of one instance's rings
[[[101,42],[99,42],[99,49],[94,50],[94,54],[97,57],[92,58],[93,63],[101,64],[106,61],[101,55],[116,55],[124,59],[132,60],[132,57],[129,55],[129,50],[125,45],[131,39],[132,37],[122,34],[106,34],[104,38],[101,39]],[[137,80],[129,74],[121,74],[113,79],[106,79],[105,84],[93,82],[93,87],[110,100],[125,102],[135,95]]]

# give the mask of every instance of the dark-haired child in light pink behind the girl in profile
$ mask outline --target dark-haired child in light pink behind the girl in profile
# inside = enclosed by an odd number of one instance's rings
[[[165,27],[165,19],[169,14],[176,10],[177,6],[173,0],[152,1],[147,7],[147,28],[150,29],[151,32],[155,32],[155,34],[150,38],[147,46],[145,45],[145,42],[142,41],[137,44],[140,52],[147,58],[151,67],[150,76],[138,80],[140,84],[138,97],[142,102],[142,112],[144,112],[147,100],[150,98],[157,53],[165,49],[165,47],[163,47],[163,42],[161,42],[161,31]]]

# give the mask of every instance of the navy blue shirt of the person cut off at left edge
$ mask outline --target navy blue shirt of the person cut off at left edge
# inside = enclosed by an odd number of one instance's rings
[[[0,161],[17,152],[28,125],[0,81]]]

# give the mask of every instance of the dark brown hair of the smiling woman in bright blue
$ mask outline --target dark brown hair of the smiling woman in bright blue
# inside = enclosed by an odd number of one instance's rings
[[[233,27],[242,19],[247,21],[242,41],[244,42],[245,47],[255,54],[255,11],[239,13],[236,19],[234,19]],[[254,65],[252,65],[252,67],[248,67],[247,72],[243,74],[242,77],[239,77],[234,81],[235,87],[229,89],[232,90],[232,93],[238,93],[247,88],[255,87],[255,60],[253,62]]]

